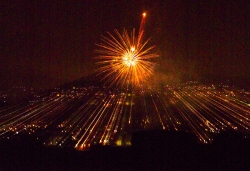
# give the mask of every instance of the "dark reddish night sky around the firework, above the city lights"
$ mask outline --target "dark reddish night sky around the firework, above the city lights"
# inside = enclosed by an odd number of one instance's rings
[[[1,2],[1,86],[51,88],[93,73],[101,35],[139,29],[155,44],[157,77],[250,79],[249,0]]]

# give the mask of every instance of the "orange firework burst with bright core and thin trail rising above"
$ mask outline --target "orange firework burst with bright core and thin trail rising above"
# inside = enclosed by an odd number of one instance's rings
[[[97,58],[100,65],[99,74],[105,74],[103,80],[109,85],[141,86],[153,75],[153,59],[157,54],[151,53],[154,46],[147,47],[150,39],[143,42],[143,25],[146,13],[143,13],[140,30],[136,36],[135,29],[129,34],[127,30],[115,34],[107,33],[102,37],[96,50],[100,56]]]

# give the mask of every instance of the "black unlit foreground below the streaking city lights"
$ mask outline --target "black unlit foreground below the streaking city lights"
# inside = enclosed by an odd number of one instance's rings
[[[0,141],[0,170],[250,170],[249,137],[225,132],[210,145],[186,133],[133,135],[131,147],[94,146],[88,151],[45,147],[32,136]]]

